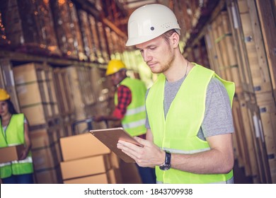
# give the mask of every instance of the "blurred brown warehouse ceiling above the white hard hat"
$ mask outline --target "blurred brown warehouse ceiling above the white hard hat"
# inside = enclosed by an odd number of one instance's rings
[[[183,45],[190,45],[211,18],[214,8],[225,0],[71,0],[127,38],[127,21],[130,14],[146,4],[163,4],[176,13],[181,28]],[[223,3],[222,3],[223,2]]]

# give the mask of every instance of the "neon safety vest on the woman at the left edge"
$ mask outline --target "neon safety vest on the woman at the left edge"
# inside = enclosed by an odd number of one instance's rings
[[[16,146],[24,144],[24,115],[14,114],[6,127],[6,136],[0,122],[0,147]],[[6,178],[11,175],[23,175],[33,173],[33,159],[31,153],[28,153],[27,158],[21,161],[11,161],[0,163],[0,177]]]

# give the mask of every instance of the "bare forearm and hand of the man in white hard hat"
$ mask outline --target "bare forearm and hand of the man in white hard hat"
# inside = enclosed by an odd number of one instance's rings
[[[138,147],[125,141],[119,141],[117,148],[122,149],[130,157],[134,158],[142,167],[154,167],[165,161],[165,151],[152,142],[152,134],[148,129],[146,139],[135,137],[144,147]],[[231,134],[210,136],[207,138],[209,151],[192,154],[172,153],[172,168],[200,174],[229,173],[234,165],[234,151]]]

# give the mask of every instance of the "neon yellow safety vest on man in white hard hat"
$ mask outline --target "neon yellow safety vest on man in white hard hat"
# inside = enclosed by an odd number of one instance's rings
[[[197,133],[205,116],[207,86],[214,77],[219,78],[214,71],[195,64],[180,86],[165,119],[163,95],[166,77],[159,75],[146,98],[146,112],[154,144],[171,153],[190,154],[210,150],[207,141],[199,139]],[[234,83],[222,78],[219,80],[224,84],[232,103]],[[163,171],[156,166],[156,180],[163,183],[225,183],[232,177],[232,170],[227,174],[195,174],[173,168]]]

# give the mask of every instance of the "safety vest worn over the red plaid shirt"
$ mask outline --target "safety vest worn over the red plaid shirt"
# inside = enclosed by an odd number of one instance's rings
[[[132,102],[127,106],[127,112],[122,119],[122,127],[131,135],[139,136],[146,133],[146,86],[142,81],[134,78],[125,78],[120,85],[127,86],[132,92]],[[117,105],[117,92],[115,93],[115,105]]]

